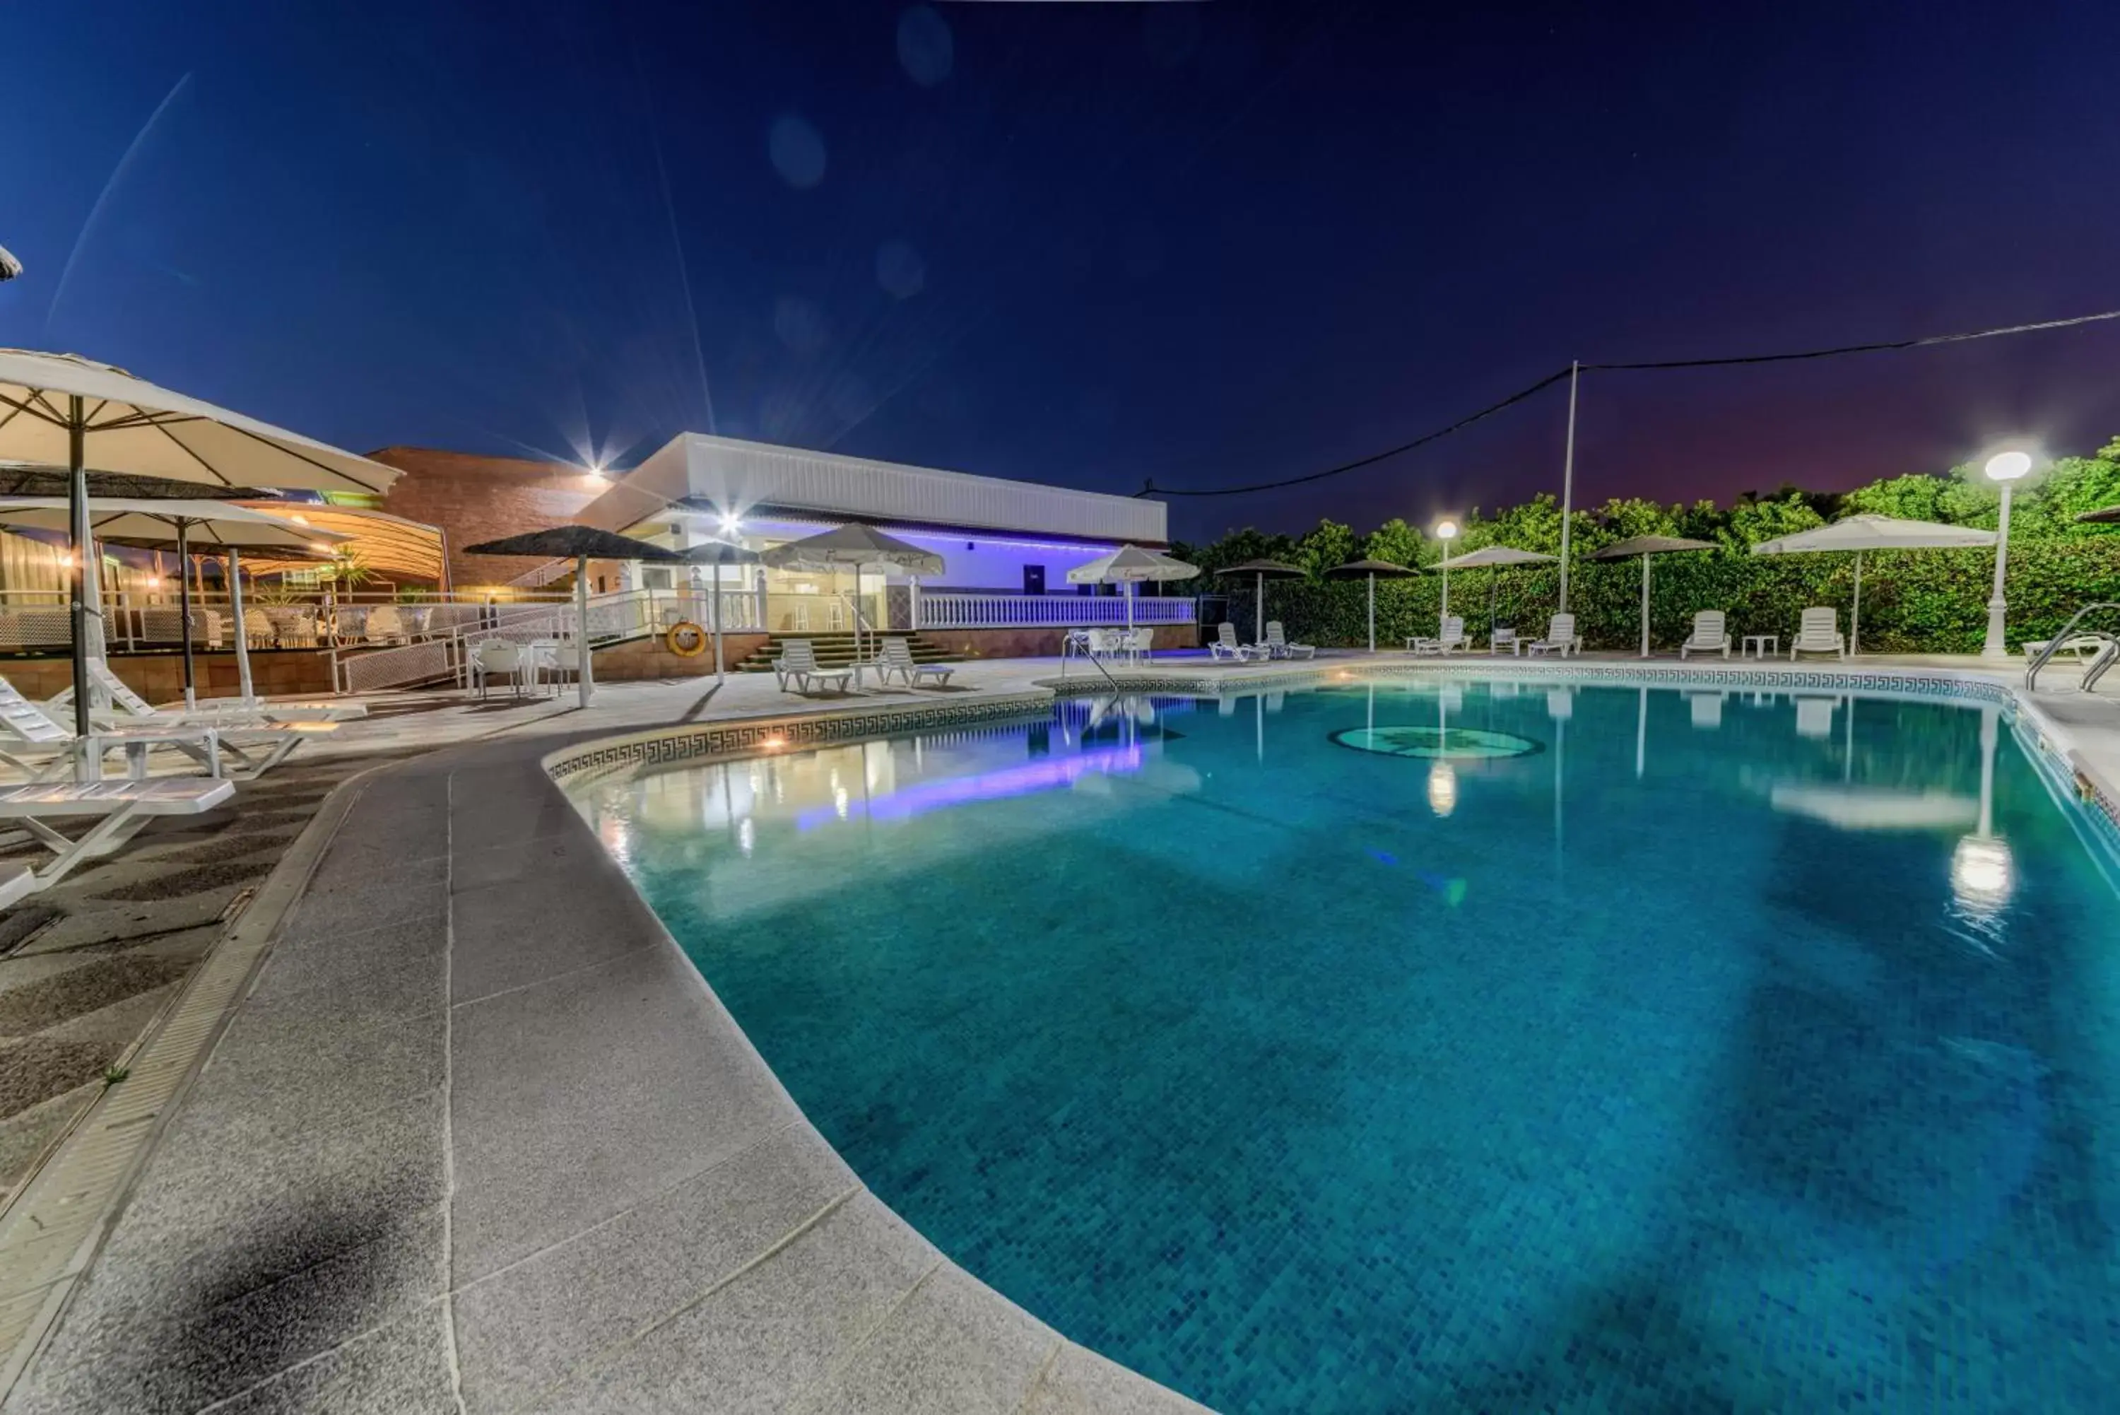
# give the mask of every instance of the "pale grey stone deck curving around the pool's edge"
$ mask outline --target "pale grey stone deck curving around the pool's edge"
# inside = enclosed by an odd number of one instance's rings
[[[1310,677],[1435,664],[1325,656]],[[1825,675],[1813,692],[1842,677],[1804,670]],[[1287,672],[1187,658],[1113,677],[1242,689]],[[1853,672],[2016,685],[2022,662]],[[621,683],[585,711],[464,704],[339,734],[333,753],[430,751],[339,787],[136,1076],[0,1216],[0,1332],[23,1339],[0,1409],[1198,1411],[869,1194],[545,766],[649,728],[823,715],[859,736],[912,704],[1035,711],[1058,675],[990,660],[960,692],[844,704],[767,675]],[[2114,800],[2120,698],[2069,692],[2073,668],[2050,681],[2039,730]]]

